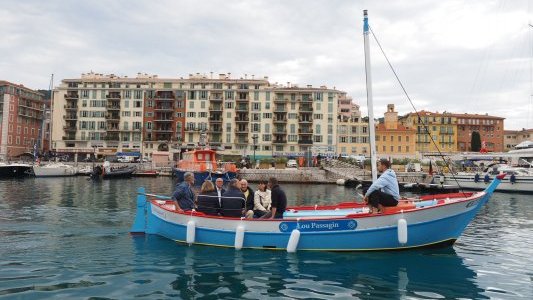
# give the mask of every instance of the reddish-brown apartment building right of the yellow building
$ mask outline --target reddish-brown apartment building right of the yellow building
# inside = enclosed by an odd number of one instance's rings
[[[488,114],[452,114],[457,119],[457,151],[471,151],[472,132],[477,131],[481,142],[488,151],[502,152],[504,150],[503,124],[505,118],[489,116]]]

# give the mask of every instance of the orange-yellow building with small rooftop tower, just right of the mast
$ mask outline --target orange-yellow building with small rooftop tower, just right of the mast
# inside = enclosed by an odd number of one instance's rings
[[[416,131],[411,126],[398,123],[394,104],[387,105],[385,120],[376,125],[376,152],[391,158],[412,157],[416,154]]]

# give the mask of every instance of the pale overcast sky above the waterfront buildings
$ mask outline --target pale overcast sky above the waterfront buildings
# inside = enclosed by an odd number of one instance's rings
[[[348,92],[366,114],[363,9],[418,110],[533,127],[533,0],[29,1],[0,6],[0,79],[231,72]],[[374,114],[412,112],[374,40]]]

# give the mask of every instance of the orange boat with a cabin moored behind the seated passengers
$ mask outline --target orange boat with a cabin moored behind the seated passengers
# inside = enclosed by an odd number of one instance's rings
[[[183,175],[192,172],[196,184],[206,180],[215,181],[222,178],[229,181],[237,177],[237,167],[232,163],[217,163],[216,152],[210,149],[193,150],[183,153],[183,159],[178,162],[178,167],[173,170],[178,181],[183,181]]]

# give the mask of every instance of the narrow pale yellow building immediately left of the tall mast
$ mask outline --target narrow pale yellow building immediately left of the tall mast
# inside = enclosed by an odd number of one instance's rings
[[[349,115],[345,110],[349,102]],[[361,117],[359,105],[352,103],[352,99],[339,100],[339,114],[337,116],[337,152],[340,155],[370,155],[368,140],[368,121]]]

